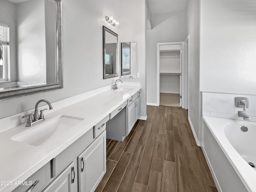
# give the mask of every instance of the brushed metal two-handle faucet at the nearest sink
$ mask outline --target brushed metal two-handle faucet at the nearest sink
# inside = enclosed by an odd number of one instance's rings
[[[28,121],[27,121],[26,127],[30,127],[30,126],[33,126],[35,124],[38,124],[38,123],[44,121],[44,114],[43,114],[43,112],[45,110],[47,110],[47,109],[40,110],[40,115],[38,117],[38,104],[40,102],[46,102],[48,104],[48,106],[49,106],[49,109],[50,110],[52,109],[51,103],[48,100],[46,100],[46,99],[41,99],[38,102],[36,102],[35,111],[34,111],[34,119],[32,120],[32,114],[31,113],[22,117],[22,118],[28,117]]]

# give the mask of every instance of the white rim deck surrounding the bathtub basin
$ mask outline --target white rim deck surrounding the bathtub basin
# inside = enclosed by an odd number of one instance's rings
[[[234,170],[237,172],[238,176],[248,189],[248,191],[254,192],[256,191],[256,171],[248,166],[248,163],[238,154],[235,148],[230,144],[228,139],[224,134],[224,127],[230,123],[246,123],[256,125],[256,122],[248,122],[248,121],[240,121],[240,120],[232,120],[232,119],[224,119],[224,118],[216,118],[216,117],[208,117],[203,116],[204,122],[210,128],[214,138],[222,148],[224,154],[234,167]]]

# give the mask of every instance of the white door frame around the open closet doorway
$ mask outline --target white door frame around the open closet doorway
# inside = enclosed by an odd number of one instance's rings
[[[184,94],[184,42],[167,42],[167,43],[157,43],[157,63],[156,63],[156,104],[157,106],[160,105],[160,45],[180,45],[181,50],[181,95],[182,95],[182,102],[181,106],[184,108],[184,101],[185,101],[185,94]]]

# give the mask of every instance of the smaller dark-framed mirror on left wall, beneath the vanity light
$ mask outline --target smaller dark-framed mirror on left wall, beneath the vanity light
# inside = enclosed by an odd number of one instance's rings
[[[103,79],[118,76],[118,34],[102,27],[103,33]]]

